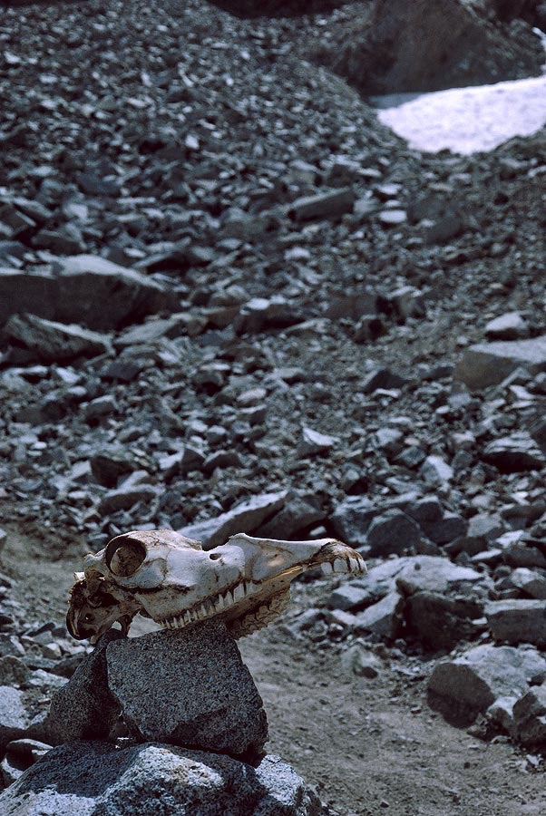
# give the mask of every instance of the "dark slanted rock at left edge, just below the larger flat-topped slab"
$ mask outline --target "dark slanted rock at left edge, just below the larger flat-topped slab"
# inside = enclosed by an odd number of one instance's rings
[[[24,345],[42,363],[66,363],[77,357],[95,357],[112,352],[108,335],[34,315],[10,317],[3,331],[9,340]]]

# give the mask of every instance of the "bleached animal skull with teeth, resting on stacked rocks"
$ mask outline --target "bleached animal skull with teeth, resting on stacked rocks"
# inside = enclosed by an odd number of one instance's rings
[[[137,530],[85,557],[66,624],[73,637],[96,642],[115,621],[126,634],[137,612],[165,628],[221,616],[234,636],[249,635],[284,611],[291,581],[316,567],[326,574],[366,571],[362,556],[336,539],[238,533],[205,551],[171,529]]]

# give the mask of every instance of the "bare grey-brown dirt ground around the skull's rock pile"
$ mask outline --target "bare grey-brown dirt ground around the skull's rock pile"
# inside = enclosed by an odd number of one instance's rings
[[[0,556],[29,622],[62,622],[80,559],[40,558],[44,542],[9,529]],[[346,646],[326,649],[291,632],[290,620],[324,594],[297,584],[287,615],[240,642],[268,712],[268,753],[277,753],[343,816],[539,816],[543,772],[503,738],[484,743],[453,728],[426,703],[432,663],[385,650],[375,678],[342,665]]]

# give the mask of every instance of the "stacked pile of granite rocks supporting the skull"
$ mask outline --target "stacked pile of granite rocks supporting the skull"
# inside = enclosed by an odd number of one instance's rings
[[[325,812],[288,765],[264,757],[267,717],[224,624],[119,635],[103,636],[48,714],[7,744],[4,778],[14,783],[0,796],[2,812]],[[108,737],[121,733],[120,716],[134,739],[116,745]],[[27,772],[24,751],[28,765],[39,759]]]

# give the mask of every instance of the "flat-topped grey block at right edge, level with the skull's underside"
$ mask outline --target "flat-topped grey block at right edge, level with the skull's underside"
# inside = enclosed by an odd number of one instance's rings
[[[546,646],[546,601],[525,598],[490,601],[485,615],[495,640]]]

